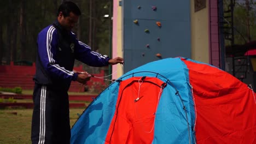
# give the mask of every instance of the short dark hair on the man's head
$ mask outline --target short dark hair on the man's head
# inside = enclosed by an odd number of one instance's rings
[[[77,7],[75,3],[71,1],[64,1],[60,5],[57,15],[59,15],[60,12],[62,12],[64,17],[69,16],[71,12],[73,12],[75,15],[78,15],[78,16],[81,15],[80,9]]]

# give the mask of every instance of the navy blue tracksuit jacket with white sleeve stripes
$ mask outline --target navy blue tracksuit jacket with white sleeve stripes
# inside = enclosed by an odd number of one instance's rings
[[[108,65],[109,57],[91,51],[90,46],[79,41],[73,32],[68,32],[55,21],[44,28],[37,38],[38,56],[34,81],[68,91],[71,81],[77,80],[74,60],[92,67]]]

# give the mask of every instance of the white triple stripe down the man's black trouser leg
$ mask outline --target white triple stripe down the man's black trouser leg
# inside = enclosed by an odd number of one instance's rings
[[[44,143],[45,138],[45,96],[46,86],[42,86],[40,94],[40,133],[39,133],[39,144]]]

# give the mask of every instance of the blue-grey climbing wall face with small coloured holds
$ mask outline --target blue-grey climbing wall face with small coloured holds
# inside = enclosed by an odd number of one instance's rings
[[[161,58],[191,57],[190,1],[123,0],[122,7],[124,73]]]

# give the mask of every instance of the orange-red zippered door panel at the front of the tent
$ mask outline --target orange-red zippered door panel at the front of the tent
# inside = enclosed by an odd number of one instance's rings
[[[117,106],[106,143],[153,141],[155,111],[161,96],[160,87],[164,82],[155,77],[146,77],[142,82],[141,78],[132,77],[120,82]],[[135,102],[138,95],[139,100]]]

